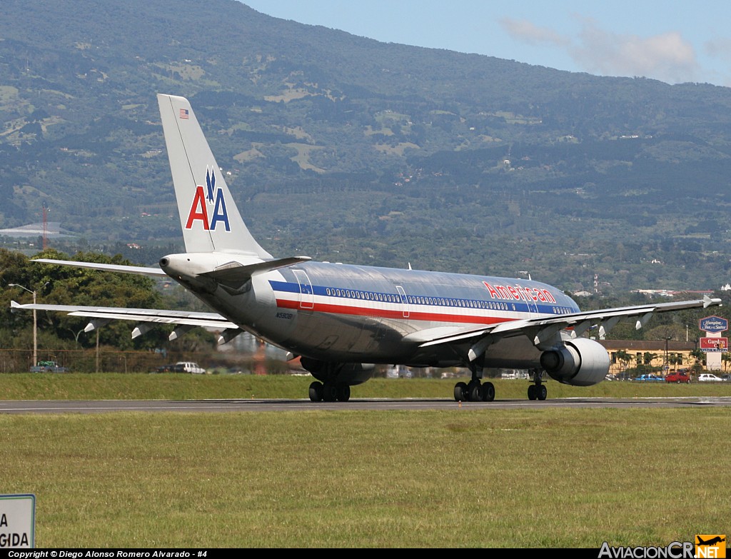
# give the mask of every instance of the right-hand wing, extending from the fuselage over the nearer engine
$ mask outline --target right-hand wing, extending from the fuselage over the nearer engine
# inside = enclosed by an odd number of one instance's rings
[[[720,299],[711,299],[707,295],[702,299],[677,301],[672,303],[651,303],[631,307],[605,308],[599,311],[561,314],[557,316],[539,316],[530,319],[518,319],[488,327],[438,327],[430,330],[414,332],[406,336],[406,341],[418,341],[420,347],[436,346],[452,343],[472,343],[469,359],[474,361],[485,348],[499,338],[526,335],[533,340],[535,346],[548,348],[554,336],[561,330],[570,330],[572,338],[577,338],[591,327],[598,327],[599,337],[604,338],[607,332],[621,320],[634,319],[635,328],[640,330],[655,313],[681,311],[686,308],[708,308],[720,306]]]

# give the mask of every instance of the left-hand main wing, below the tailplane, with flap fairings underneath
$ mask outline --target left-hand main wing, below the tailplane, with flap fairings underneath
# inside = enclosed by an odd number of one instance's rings
[[[170,340],[179,338],[183,333],[193,327],[213,327],[224,332],[221,338],[230,340],[232,333],[239,333],[237,324],[230,322],[217,313],[197,313],[190,311],[167,311],[156,308],[118,308],[118,307],[83,307],[79,305],[41,305],[29,304],[20,305],[15,301],[10,302],[11,308],[22,308],[30,311],[56,311],[69,314],[69,316],[87,316],[89,323],[84,329],[91,332],[95,328],[107,324],[113,320],[131,320],[138,322],[132,330],[132,338],[144,334],[155,324],[177,324],[178,327],[170,334]],[[219,338],[219,341],[221,339]]]

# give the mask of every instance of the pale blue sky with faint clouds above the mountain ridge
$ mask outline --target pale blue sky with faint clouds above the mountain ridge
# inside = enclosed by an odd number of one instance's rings
[[[723,0],[241,0],[275,18],[382,42],[602,76],[731,86]]]

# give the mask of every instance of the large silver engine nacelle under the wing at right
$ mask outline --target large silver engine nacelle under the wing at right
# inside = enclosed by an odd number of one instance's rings
[[[576,338],[564,341],[561,349],[544,351],[541,366],[551,379],[575,387],[590,387],[603,381],[609,373],[609,355],[594,340]]]

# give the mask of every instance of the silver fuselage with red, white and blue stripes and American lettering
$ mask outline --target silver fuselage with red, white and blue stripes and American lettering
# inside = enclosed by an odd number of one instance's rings
[[[198,294],[292,354],[338,362],[459,365],[453,346],[420,347],[427,335],[579,311],[537,281],[329,262],[260,273],[242,291]],[[532,368],[539,351],[521,335],[501,338],[487,357],[487,366]]]

